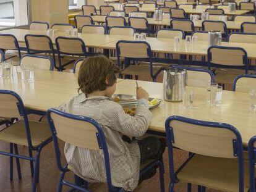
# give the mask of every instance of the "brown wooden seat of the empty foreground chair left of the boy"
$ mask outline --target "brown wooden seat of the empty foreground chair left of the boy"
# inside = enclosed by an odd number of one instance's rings
[[[29,127],[33,146],[36,147],[43,143],[43,141],[51,138],[51,131],[48,123],[30,121]],[[28,146],[25,124],[23,120],[19,120],[19,122],[14,123],[10,127],[0,131],[0,140],[7,143]]]

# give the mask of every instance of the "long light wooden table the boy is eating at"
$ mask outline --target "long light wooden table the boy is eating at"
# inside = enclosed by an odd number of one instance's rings
[[[256,112],[250,109],[249,93],[223,91],[221,106],[214,107],[207,104],[207,89],[187,86],[187,90],[194,91],[192,109],[184,109],[182,102],[167,102],[163,98],[163,83],[138,81],[148,91],[151,98],[163,99],[159,107],[151,112],[153,120],[149,130],[151,133],[164,135],[164,121],[171,115],[181,115],[192,119],[229,123],[239,130],[244,146],[249,139],[256,135]],[[19,72],[11,78],[0,78],[2,90],[12,90],[20,95],[25,107],[40,111],[47,111],[77,95],[77,74],[48,70],[35,70],[35,82],[28,83],[20,80]],[[118,80],[117,94],[135,94],[135,80]]]

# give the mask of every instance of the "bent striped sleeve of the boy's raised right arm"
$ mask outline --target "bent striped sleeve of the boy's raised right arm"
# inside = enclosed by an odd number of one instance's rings
[[[111,117],[111,128],[127,136],[142,136],[148,130],[151,119],[147,99],[139,99],[133,117],[126,114],[121,106],[115,108]]]

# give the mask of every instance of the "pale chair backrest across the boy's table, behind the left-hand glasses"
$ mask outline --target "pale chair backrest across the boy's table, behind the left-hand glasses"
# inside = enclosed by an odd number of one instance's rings
[[[53,70],[53,60],[48,56],[37,56],[35,54],[25,54],[20,60],[20,65],[32,64],[35,69]]]

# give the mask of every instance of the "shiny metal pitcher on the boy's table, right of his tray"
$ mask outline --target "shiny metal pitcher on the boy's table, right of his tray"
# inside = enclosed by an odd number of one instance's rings
[[[186,81],[186,70],[177,68],[169,68],[164,70],[164,100],[169,102],[182,101],[182,96],[186,89]]]

